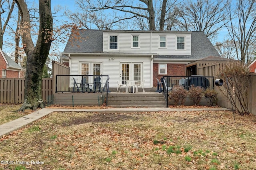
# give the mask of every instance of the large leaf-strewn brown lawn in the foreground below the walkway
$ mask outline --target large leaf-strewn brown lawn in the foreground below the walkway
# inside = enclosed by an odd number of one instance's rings
[[[51,113],[0,140],[0,169],[255,170],[255,129],[230,111]]]

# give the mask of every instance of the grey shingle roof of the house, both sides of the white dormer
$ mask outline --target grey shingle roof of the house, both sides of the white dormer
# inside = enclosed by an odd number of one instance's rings
[[[72,30],[64,53],[102,53],[102,30]],[[191,32],[191,55],[157,55],[155,59],[199,60],[206,57],[220,57],[218,51],[202,31]],[[66,56],[62,56],[66,57]]]

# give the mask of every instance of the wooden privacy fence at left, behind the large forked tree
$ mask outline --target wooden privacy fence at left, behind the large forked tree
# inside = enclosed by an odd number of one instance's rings
[[[24,102],[24,78],[0,78],[0,103]],[[52,78],[42,80],[42,99],[44,102],[53,101]]]

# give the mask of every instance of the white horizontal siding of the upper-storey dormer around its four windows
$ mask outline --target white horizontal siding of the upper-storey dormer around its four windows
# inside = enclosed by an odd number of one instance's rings
[[[109,49],[110,35],[118,35],[118,49]],[[132,47],[132,36],[139,36],[139,47]],[[160,36],[166,36],[166,47],[160,48]],[[176,50],[176,36],[185,36],[185,50]],[[103,31],[103,52],[105,53],[157,53],[159,55],[191,55],[191,33],[168,31]]]

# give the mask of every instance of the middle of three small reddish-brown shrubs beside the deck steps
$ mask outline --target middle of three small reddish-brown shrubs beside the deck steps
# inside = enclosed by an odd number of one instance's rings
[[[200,86],[190,86],[188,96],[193,101],[194,105],[198,105],[204,95],[204,88]]]

